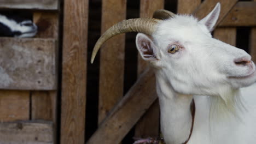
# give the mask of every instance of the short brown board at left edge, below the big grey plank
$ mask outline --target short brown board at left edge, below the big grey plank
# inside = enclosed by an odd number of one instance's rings
[[[30,92],[0,91],[0,122],[30,119]]]

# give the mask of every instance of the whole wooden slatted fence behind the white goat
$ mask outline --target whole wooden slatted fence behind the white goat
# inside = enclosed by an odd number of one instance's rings
[[[247,47],[256,61],[256,1],[1,1],[0,9],[32,13],[39,32],[36,38],[0,38],[0,68],[13,80],[3,82],[0,69],[0,143],[110,144],[131,143],[133,136],[159,136],[154,73],[134,53],[127,57],[136,49],[135,34],[108,40],[93,65],[88,61],[92,47],[100,29],[103,33],[131,13],[152,17],[156,9],[165,8],[202,19],[217,2],[222,9],[214,37]],[[242,35],[248,39],[242,40],[241,29],[247,29]],[[15,46],[30,55],[21,52],[10,61],[6,53],[15,53],[10,49]],[[136,61],[127,63],[131,58]],[[135,79],[131,67],[137,81],[130,87],[127,79]]]

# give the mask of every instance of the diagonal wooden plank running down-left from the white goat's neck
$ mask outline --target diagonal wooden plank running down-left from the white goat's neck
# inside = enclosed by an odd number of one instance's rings
[[[110,112],[109,116],[104,119],[87,143],[113,144],[121,142],[133,125],[156,100],[154,77],[153,70],[147,69],[130,91],[125,94],[125,97],[115,106],[114,110]],[[148,91],[148,89],[154,89],[154,91]],[[148,95],[148,97],[144,97],[144,95]]]

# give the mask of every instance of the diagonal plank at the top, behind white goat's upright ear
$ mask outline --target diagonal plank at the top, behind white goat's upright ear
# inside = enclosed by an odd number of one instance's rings
[[[202,4],[194,11],[194,15],[198,17],[200,20],[205,17],[211,10],[215,7],[215,5],[220,2],[221,10],[219,19],[217,21],[217,25],[220,21],[223,20],[229,11],[234,7],[238,0],[205,0]]]

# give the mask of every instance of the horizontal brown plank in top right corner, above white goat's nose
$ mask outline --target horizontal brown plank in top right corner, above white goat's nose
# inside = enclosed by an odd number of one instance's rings
[[[219,26],[256,26],[256,2],[238,2]]]

